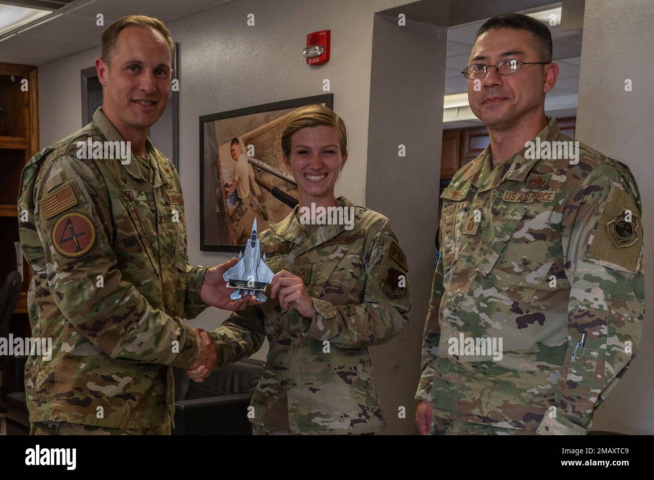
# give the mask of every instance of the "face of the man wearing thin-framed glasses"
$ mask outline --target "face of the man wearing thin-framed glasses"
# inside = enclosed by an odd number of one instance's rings
[[[547,61],[541,58],[538,39],[526,30],[513,28],[490,29],[477,37],[468,65],[496,65],[499,61]],[[544,67],[544,69],[543,69]],[[556,82],[555,64],[522,65],[513,75],[498,75],[490,67],[477,84],[468,80],[468,103],[472,112],[489,129],[510,129],[532,116],[544,115],[545,92]]]

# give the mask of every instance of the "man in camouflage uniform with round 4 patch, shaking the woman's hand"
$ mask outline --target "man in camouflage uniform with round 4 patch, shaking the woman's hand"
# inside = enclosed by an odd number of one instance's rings
[[[171,50],[158,20],[116,21],[96,60],[103,106],[23,171],[29,318],[33,336],[54,345],[52,360],[31,355],[26,365],[33,434],[169,433],[170,366],[215,361],[208,337],[182,318],[235,306],[224,301],[229,290],[211,285],[233,262],[188,265],[179,176],[146,138],[167,102]],[[126,140],[131,155],[116,158]]]

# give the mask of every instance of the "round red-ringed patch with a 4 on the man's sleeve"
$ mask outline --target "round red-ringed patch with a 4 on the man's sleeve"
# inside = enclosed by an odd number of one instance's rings
[[[82,256],[92,249],[94,243],[93,222],[83,213],[65,213],[52,226],[52,245],[63,256]]]

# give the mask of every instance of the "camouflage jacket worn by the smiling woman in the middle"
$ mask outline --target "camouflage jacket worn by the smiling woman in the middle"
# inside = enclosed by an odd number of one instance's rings
[[[259,235],[272,271],[285,269],[304,280],[315,318],[284,312],[277,298],[269,298],[234,312],[211,333],[218,367],[256,352],[264,335],[269,341],[252,398],[254,424],[296,434],[385,428],[368,347],[385,343],[409,320],[407,262],[385,216],[339,201],[354,207],[352,230],[306,230],[296,207]]]

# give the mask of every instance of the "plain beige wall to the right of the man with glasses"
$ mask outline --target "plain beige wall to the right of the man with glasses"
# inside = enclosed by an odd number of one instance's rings
[[[598,409],[594,430],[654,434],[654,28],[651,0],[586,0],[576,137],[627,163],[643,201],[645,325],[625,377]],[[625,80],[632,92],[625,92]]]

